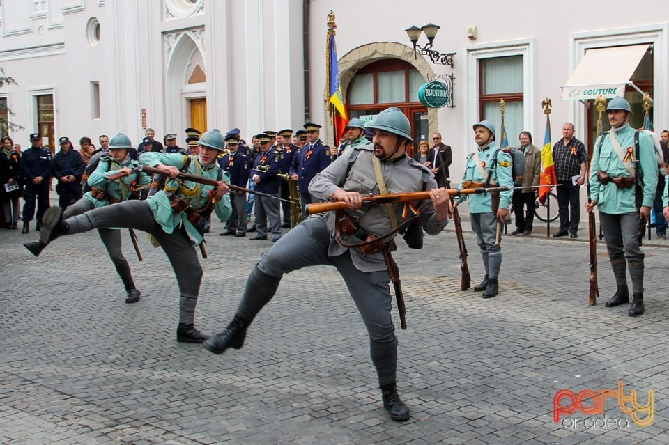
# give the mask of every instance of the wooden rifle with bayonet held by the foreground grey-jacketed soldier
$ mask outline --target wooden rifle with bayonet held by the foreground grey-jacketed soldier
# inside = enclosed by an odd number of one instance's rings
[[[555,187],[555,185],[529,185],[525,187],[477,187],[474,189],[447,189],[449,196],[470,195],[475,193],[491,193],[491,192],[505,192],[507,190],[529,189],[537,187]],[[368,205],[384,205],[392,203],[405,203],[407,201],[424,201],[430,198],[430,192],[406,192],[406,193],[389,193],[385,195],[363,195],[362,204]],[[323,203],[307,204],[307,213],[323,213],[331,212],[333,210],[348,209],[348,203],[345,201],[328,201]]]

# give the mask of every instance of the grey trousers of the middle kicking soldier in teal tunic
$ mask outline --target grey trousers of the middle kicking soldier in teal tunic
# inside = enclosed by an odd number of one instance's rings
[[[93,228],[125,227],[153,235],[167,255],[179,286],[181,295],[179,322],[186,324],[193,322],[202,281],[202,267],[185,228],[176,228],[172,233],[165,233],[160,224],[153,219],[149,203],[137,200],[96,208],[77,217],[68,218],[67,222],[70,224],[70,234],[86,232]]]

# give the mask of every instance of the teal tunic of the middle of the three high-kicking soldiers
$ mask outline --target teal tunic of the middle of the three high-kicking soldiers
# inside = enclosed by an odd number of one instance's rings
[[[183,166],[187,162],[188,158],[190,159],[190,164],[188,164],[188,169],[184,173],[190,175],[201,176],[202,178],[207,178],[211,180],[217,180],[219,171],[222,171],[217,162],[214,162],[213,165],[203,166],[200,164],[199,156],[187,156],[180,155],[178,153],[159,153],[159,152],[146,152],[142,153],[139,156],[139,162],[141,164],[156,167],[160,164],[162,165],[171,165],[175,166],[177,169],[183,169]],[[229,182],[230,177],[228,173],[222,171],[221,180],[223,182]],[[178,186],[178,180],[169,179],[165,185],[165,189],[172,191],[176,190]],[[198,184],[197,182],[183,181],[182,192],[180,193],[180,198],[184,199],[187,203],[191,205],[194,209],[203,208],[209,197],[210,190],[215,189],[211,185]],[[180,227],[182,224],[186,228],[188,235],[193,246],[197,246],[202,242],[202,235],[199,233],[197,228],[191,224],[187,219],[187,214],[185,212],[177,213],[172,210],[170,205],[170,198],[167,196],[167,192],[163,189],[160,192],[157,192],[153,196],[146,198],[146,201],[151,205],[151,211],[153,212],[153,218],[155,221],[160,224],[162,230],[165,233],[172,233],[174,229]],[[216,216],[223,221],[226,221],[230,214],[232,213],[232,206],[230,204],[230,196],[224,194],[223,198],[220,201],[214,203],[214,212]]]

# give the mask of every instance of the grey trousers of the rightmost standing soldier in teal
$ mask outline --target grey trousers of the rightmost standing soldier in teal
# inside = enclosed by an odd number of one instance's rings
[[[608,258],[617,286],[626,286],[625,263],[632,279],[632,292],[643,293],[643,260],[639,246],[640,221],[638,212],[610,214],[599,212],[601,231],[606,242]]]

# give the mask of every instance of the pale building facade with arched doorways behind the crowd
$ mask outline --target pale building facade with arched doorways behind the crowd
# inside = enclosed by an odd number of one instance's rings
[[[592,144],[593,100],[561,100],[560,88],[590,49],[611,48],[609,61],[590,74],[592,85],[598,72],[604,78],[632,63],[633,72],[615,75],[633,81],[623,86],[633,125],[643,117],[643,91],[654,101],[656,130],[669,127],[669,10],[659,0],[627,13],[628,3],[614,3],[3,0],[0,68],[18,86],[5,86],[0,100],[15,113],[10,120],[25,127],[11,134],[16,142],[40,132],[52,148],[59,136],[95,141],[116,132],[139,143],[147,127],[157,139],[175,132],[182,143],[186,127],[239,127],[249,141],[307,120],[322,123],[322,139],[332,145],[325,60],[333,10],[349,117],[400,107],[415,139],[443,134],[459,177],[475,148],[472,123],[488,118],[498,125],[500,99],[512,146],[521,130],[542,145],[546,97],[553,143],[562,123],[572,122],[576,137]],[[452,66],[413,51],[405,29],[427,22],[441,26],[433,49],[456,53]],[[422,36],[418,45],[425,42]],[[629,46],[645,48],[636,63],[615,49]],[[420,85],[436,78],[452,79],[452,107],[428,109],[418,100]]]

